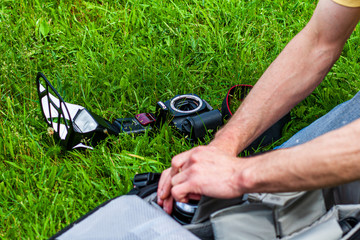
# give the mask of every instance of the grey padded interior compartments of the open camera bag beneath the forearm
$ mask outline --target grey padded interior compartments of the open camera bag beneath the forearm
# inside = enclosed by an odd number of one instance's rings
[[[356,181],[309,192],[249,194],[245,203],[210,215],[215,239],[360,239],[359,187]],[[349,217],[356,225],[344,232],[340,221]]]

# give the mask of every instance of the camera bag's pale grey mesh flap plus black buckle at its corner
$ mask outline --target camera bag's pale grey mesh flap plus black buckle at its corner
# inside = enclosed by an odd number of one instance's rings
[[[156,204],[160,174],[140,174],[126,195],[110,199],[50,239],[198,239]]]

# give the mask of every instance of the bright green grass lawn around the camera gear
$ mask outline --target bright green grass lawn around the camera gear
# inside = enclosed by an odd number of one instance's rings
[[[43,239],[161,171],[191,145],[169,127],[63,151],[47,135],[35,77],[113,120],[195,93],[218,108],[254,84],[310,19],[316,1],[0,2],[0,238]],[[284,139],[360,89],[359,32],[319,88],[292,111]],[[108,143],[113,147],[109,147]]]

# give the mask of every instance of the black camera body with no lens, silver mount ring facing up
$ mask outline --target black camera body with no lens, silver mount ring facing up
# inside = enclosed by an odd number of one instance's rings
[[[191,140],[201,139],[208,130],[223,125],[220,111],[195,94],[176,95],[166,102],[157,102],[155,115],[158,126],[169,122]]]

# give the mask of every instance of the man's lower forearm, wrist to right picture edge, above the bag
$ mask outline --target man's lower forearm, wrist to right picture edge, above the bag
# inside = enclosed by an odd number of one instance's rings
[[[239,162],[242,192],[288,192],[360,179],[360,120],[305,144]],[[286,179],[286,181],[284,181]]]

